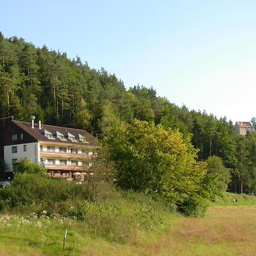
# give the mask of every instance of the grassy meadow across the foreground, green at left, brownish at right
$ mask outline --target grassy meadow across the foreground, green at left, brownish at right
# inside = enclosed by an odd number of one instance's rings
[[[117,243],[68,218],[6,214],[0,216],[0,255],[256,255],[256,205],[214,206],[204,218],[168,214],[165,223]]]

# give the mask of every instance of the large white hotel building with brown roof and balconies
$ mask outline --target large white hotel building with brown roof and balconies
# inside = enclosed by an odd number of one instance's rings
[[[12,121],[4,134],[5,162],[13,171],[13,163],[22,158],[42,163],[51,176],[82,172],[99,146],[85,130],[60,126]]]

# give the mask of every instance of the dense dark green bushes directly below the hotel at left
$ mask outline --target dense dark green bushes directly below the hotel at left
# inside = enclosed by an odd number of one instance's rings
[[[0,209],[70,214],[88,195],[85,186],[45,174],[16,174],[10,187],[0,190]]]

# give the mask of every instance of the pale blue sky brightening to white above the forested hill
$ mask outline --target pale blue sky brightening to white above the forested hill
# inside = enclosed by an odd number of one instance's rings
[[[233,122],[256,116],[255,0],[0,0],[0,31],[79,56],[126,88]]]

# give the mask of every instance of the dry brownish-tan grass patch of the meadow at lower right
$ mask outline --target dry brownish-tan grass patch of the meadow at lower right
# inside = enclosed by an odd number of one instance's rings
[[[146,255],[256,255],[256,206],[212,207],[207,217],[180,218]]]

